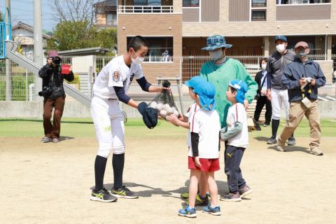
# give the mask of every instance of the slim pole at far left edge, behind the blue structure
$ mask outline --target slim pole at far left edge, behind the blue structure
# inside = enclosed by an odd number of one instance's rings
[[[10,0],[6,0],[6,7],[8,8],[8,11],[10,12]],[[9,39],[9,33],[10,33],[10,14],[8,15],[8,11],[6,10],[5,14],[5,22],[6,22],[6,39]],[[6,59],[6,101],[12,100],[12,62],[10,59]]]

